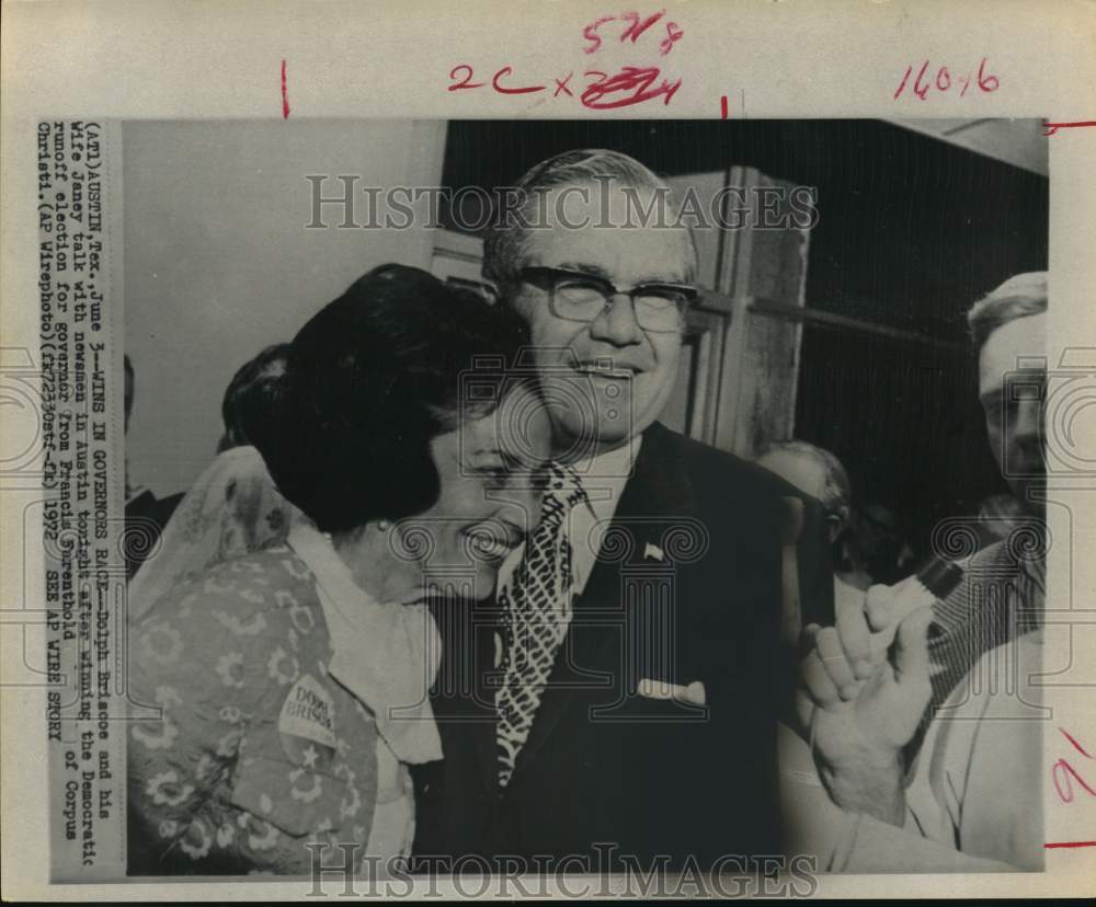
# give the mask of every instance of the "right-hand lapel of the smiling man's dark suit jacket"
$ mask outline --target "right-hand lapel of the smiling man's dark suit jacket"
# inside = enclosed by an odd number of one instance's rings
[[[625,560],[642,560],[648,544],[661,547],[662,535],[674,518],[695,515],[693,487],[682,455],[680,439],[662,425],[654,423],[644,433],[635,471],[625,485],[608,530],[626,533],[632,542],[631,554],[627,559],[598,556],[582,595],[575,599],[571,627],[557,655],[529,738],[518,755],[515,774],[521,773],[523,761],[544,746],[568,709],[583,700],[582,693],[592,685],[606,682],[591,671],[603,676],[612,671],[612,682],[619,684],[626,607],[621,566]]]

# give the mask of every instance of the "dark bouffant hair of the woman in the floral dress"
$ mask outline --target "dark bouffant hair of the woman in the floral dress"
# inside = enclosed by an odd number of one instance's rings
[[[374,268],[294,338],[251,440],[323,531],[422,513],[439,491],[430,441],[487,415],[504,388],[503,369],[477,369],[469,410],[461,372],[478,356],[513,363],[526,342],[521,318],[473,292],[414,267]]]

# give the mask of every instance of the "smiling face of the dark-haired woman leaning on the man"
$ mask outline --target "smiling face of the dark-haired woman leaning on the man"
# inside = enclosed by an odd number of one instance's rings
[[[548,413],[535,392],[517,387],[493,412],[434,438],[431,450],[441,493],[395,527],[400,554],[421,564],[432,592],[487,598],[540,516]]]

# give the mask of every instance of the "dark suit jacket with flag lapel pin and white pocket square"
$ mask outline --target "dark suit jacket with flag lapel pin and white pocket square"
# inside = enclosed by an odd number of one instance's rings
[[[433,703],[445,758],[416,772],[415,854],[561,859],[603,843],[614,860],[632,854],[646,868],[658,854],[680,865],[688,854],[707,864],[778,853],[774,732],[790,664],[777,639],[779,497],[788,494],[799,493],[659,424],[644,433],[610,530],[630,544],[603,542],[505,789],[494,743],[496,606],[438,602],[445,651]],[[821,532],[807,506],[807,535]],[[829,573],[822,585],[832,593]],[[641,679],[699,680],[707,704],[639,696]]]

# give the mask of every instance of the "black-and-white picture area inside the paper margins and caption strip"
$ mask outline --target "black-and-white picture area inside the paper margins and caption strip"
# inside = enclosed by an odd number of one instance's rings
[[[121,128],[129,873],[1039,869],[1040,123],[277,127]]]

